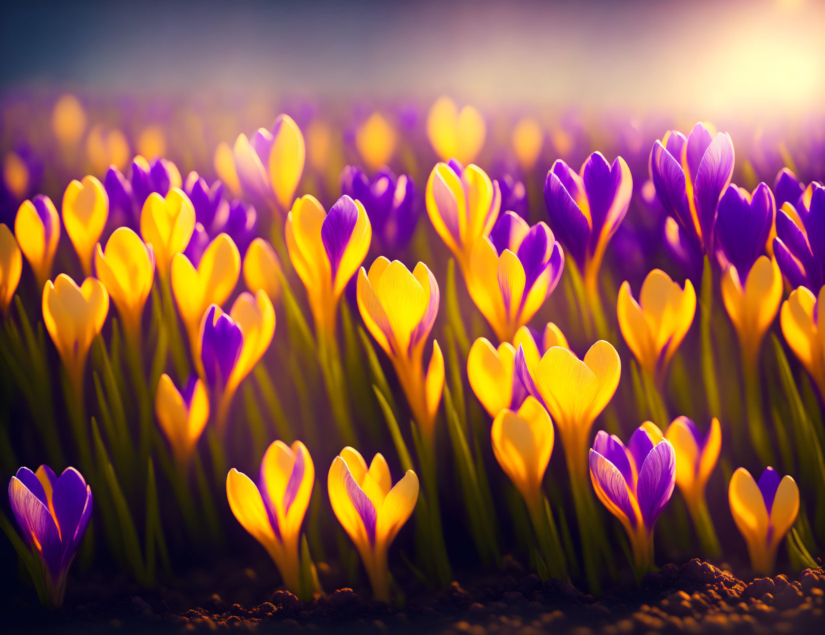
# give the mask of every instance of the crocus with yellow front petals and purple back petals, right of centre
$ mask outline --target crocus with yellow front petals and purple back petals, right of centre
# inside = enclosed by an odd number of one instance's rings
[[[544,223],[507,211],[476,241],[464,273],[467,291],[497,338],[510,341],[559,283],[564,254]]]

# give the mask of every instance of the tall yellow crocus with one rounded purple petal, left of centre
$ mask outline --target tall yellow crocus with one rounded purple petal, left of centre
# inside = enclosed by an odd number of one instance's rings
[[[319,339],[335,336],[338,301],[370,249],[364,206],[346,195],[327,214],[318,199],[300,197],[286,217],[286,248],[304,282]]]

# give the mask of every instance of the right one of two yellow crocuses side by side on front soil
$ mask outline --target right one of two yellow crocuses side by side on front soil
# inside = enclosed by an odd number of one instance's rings
[[[375,599],[389,602],[387,552],[413,514],[418,477],[408,470],[393,486],[382,455],[376,454],[368,469],[364,457],[347,447],[329,468],[327,489],[332,511],[361,554]]]

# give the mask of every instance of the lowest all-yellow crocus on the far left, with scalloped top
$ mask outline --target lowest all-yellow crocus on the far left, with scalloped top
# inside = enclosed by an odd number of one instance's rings
[[[109,294],[97,278],[87,277],[78,287],[61,273],[43,287],[43,321],[78,395],[89,347],[108,313]]]

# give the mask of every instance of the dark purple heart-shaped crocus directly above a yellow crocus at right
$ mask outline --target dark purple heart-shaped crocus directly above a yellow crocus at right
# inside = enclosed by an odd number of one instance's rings
[[[747,279],[753,263],[765,251],[771,234],[776,204],[771,188],[760,183],[751,193],[728,186],[719,199],[716,238],[724,259],[732,264],[740,280]]]

